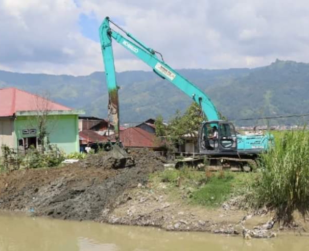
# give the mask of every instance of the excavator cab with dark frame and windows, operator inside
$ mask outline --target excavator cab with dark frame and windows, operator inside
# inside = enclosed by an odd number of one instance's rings
[[[214,120],[202,124],[199,132],[200,153],[210,155],[235,154],[237,137],[231,122]]]

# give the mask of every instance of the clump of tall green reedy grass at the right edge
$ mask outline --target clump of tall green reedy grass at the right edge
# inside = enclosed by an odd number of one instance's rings
[[[275,209],[284,224],[293,220],[295,210],[305,216],[309,211],[309,132],[284,132],[258,166],[262,173],[255,183],[257,206]]]

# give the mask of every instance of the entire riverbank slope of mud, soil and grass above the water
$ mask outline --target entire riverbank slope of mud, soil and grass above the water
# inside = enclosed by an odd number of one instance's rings
[[[246,186],[250,173],[164,170],[164,159],[153,152],[133,150],[130,155],[135,164],[119,169],[101,153],[63,167],[2,173],[0,209],[169,231],[238,235],[256,227],[252,237],[274,236],[273,215],[252,213],[235,192]]]

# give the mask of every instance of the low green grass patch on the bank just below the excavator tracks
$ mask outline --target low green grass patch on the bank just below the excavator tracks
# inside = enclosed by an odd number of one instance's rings
[[[152,187],[159,183],[167,185],[165,191],[171,198],[206,207],[220,207],[233,194],[243,194],[248,190],[248,181],[256,173],[236,173],[229,171],[204,172],[184,167],[181,170],[167,169],[152,174]]]

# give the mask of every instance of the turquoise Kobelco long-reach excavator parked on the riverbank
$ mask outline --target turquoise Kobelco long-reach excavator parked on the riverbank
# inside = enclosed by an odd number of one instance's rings
[[[252,166],[254,159],[273,144],[273,136],[268,133],[263,135],[236,133],[235,127],[230,121],[220,119],[217,108],[202,90],[165,63],[162,54],[126,32],[109,17],[106,17],[102,22],[99,35],[109,93],[108,114],[113,121],[115,131],[116,143],[113,147],[116,147],[118,152],[123,151],[124,156],[126,155],[121,147],[119,137],[120,113],[112,49],[113,40],[150,66],[159,77],[179,88],[201,107],[205,121],[201,124],[198,136],[200,157],[194,159],[194,164],[203,161],[206,156],[210,166],[219,165],[225,169],[242,169]],[[192,160],[190,161],[192,163]]]

